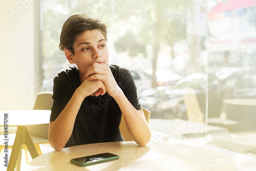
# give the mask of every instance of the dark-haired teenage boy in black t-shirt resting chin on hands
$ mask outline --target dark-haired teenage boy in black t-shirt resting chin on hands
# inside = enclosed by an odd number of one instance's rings
[[[86,15],[71,16],[62,27],[59,48],[75,65],[54,78],[49,142],[56,151],[123,141],[121,114],[138,145],[145,146],[151,138],[133,77],[108,65],[106,40],[106,25]]]

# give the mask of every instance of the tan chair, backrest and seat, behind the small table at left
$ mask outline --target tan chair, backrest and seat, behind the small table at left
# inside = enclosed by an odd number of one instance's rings
[[[51,110],[53,103],[52,94],[51,91],[39,92],[33,110]],[[49,124],[28,126],[27,129],[31,135],[48,139]]]

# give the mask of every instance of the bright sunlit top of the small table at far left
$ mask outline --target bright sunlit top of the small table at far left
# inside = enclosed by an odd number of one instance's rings
[[[49,124],[50,110],[17,110],[0,112],[0,126],[6,122],[8,126],[26,126]],[[5,120],[7,119],[7,120]]]

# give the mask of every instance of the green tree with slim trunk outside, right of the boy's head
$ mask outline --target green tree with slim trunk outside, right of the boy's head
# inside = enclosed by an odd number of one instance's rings
[[[138,5],[138,3],[140,3]],[[123,1],[115,10],[116,19],[129,19],[131,16],[136,16],[141,19],[138,27],[139,33],[136,36],[145,46],[152,46],[152,87],[157,87],[156,70],[158,53],[161,42],[167,41],[172,47],[179,39],[185,38],[185,26],[181,30],[177,30],[174,21],[181,18],[180,14],[184,8],[189,5],[185,0],[145,0],[145,1]],[[143,8],[141,8],[143,7]],[[125,13],[123,13],[125,11]],[[179,17],[177,17],[179,16]],[[179,32],[178,32],[179,31]],[[131,40],[131,39],[129,39]],[[129,44],[133,44],[132,40]],[[128,44],[128,43],[127,43]],[[134,49],[127,48],[125,51],[133,51]],[[170,53],[172,58],[174,52]],[[147,55],[150,56],[150,55]]]

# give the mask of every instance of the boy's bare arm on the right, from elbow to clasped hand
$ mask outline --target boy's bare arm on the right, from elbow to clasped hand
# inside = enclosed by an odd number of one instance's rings
[[[87,75],[89,80],[101,80],[106,91],[116,100],[123,114],[125,123],[136,143],[145,146],[151,139],[151,131],[145,120],[142,110],[137,111],[131,102],[125,97],[122,90],[118,87],[115,78],[108,66],[95,63],[91,66]]]

